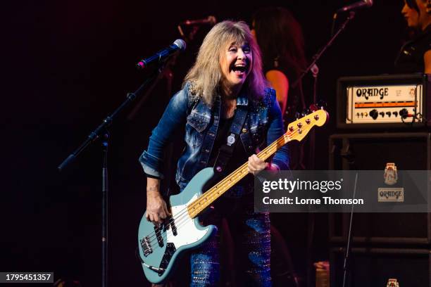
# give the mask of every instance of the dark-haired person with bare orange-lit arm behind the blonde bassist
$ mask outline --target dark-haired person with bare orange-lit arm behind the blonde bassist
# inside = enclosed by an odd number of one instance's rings
[[[256,11],[252,30],[262,51],[263,72],[277,92],[283,115],[292,120],[302,98],[301,83],[296,82],[306,69],[304,37],[301,25],[292,13],[281,7],[268,7]]]

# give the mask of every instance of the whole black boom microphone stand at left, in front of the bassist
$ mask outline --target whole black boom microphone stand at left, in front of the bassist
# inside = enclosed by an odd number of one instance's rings
[[[142,94],[142,91],[146,88],[146,86],[149,85],[156,77],[158,77],[158,74],[161,72],[163,68],[164,62],[161,63],[149,77],[144,81],[144,83],[141,84],[141,86],[133,93],[127,93],[127,98],[123,103],[121,103],[118,108],[114,110],[114,112],[111,115],[108,115],[106,117],[101,125],[99,127],[96,127],[93,132],[91,132],[87,139],[73,152],[71,153],[68,158],[65,158],[63,162],[61,162],[60,165],[58,165],[58,170],[61,172],[70,165],[71,162],[75,161],[78,155],[82,153],[82,151],[89,146],[89,144],[92,144],[97,139],[101,139],[101,147],[102,147],[102,215],[101,215],[101,281],[102,287],[108,286],[108,140],[109,140],[109,132],[108,127],[110,127],[113,124],[113,120],[115,120],[115,117],[117,117],[127,106],[132,103],[132,101],[137,98],[137,96],[140,96]]]

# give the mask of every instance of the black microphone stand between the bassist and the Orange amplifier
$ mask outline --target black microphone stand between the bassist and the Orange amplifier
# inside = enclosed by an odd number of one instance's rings
[[[344,31],[344,29],[346,28],[346,25],[355,17],[355,12],[354,11],[350,11],[349,16],[346,18],[346,20],[344,21],[344,23],[342,23],[342,25],[340,25],[340,27],[338,28],[337,32],[335,34],[332,35],[332,37],[330,38],[329,42],[327,42],[327,44],[325,46],[323,46],[314,56],[313,56],[313,60],[311,61],[310,65],[308,65],[308,68],[306,68],[306,70],[301,72],[301,75],[299,75],[298,79],[296,79],[296,81],[292,84],[292,87],[296,87],[301,80],[304,78],[304,76],[306,74],[308,74],[308,72],[314,67],[314,65],[316,65],[316,62],[320,59],[320,57],[323,55],[323,53],[326,51],[327,48],[329,48],[329,46],[332,45],[332,43],[335,41],[335,39],[338,37],[338,35]],[[313,100],[316,101],[316,84],[317,84],[317,73],[315,73],[315,75],[313,75],[314,77],[314,91],[313,91]],[[316,150],[316,141],[314,140],[314,137],[312,139],[312,141],[310,142],[310,154],[315,154],[315,150]],[[310,162],[308,162],[308,165],[311,165],[312,167],[314,167],[314,158],[310,157]],[[314,234],[314,221],[315,218],[314,216],[310,217],[308,219],[308,236],[310,238],[308,238],[308,244],[307,244],[307,249],[311,250],[312,248],[312,237]],[[307,259],[307,286],[310,286],[311,284],[311,265],[312,265],[312,261],[313,258],[312,256],[308,256]]]

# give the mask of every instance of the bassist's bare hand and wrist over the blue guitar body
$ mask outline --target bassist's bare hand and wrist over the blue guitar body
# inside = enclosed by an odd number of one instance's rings
[[[160,193],[160,179],[148,178],[146,181],[146,220],[157,227],[170,216],[168,206]]]

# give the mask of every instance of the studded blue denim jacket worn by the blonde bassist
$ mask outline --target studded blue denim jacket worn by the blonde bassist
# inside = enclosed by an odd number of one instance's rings
[[[220,96],[213,107],[208,107],[189,89],[190,84],[170,99],[161,120],[153,130],[149,146],[139,158],[144,172],[163,179],[163,148],[171,140],[176,129],[185,126],[186,147],[177,163],[175,179],[180,189],[208,164],[220,120]],[[249,155],[265,148],[284,134],[280,106],[275,98],[275,90],[267,88],[263,100],[249,101],[246,94],[237,97],[238,108],[248,108],[244,127],[240,134],[241,143]],[[239,143],[238,143],[239,144]],[[289,167],[287,146],[283,146],[273,157],[272,163],[280,170]]]

